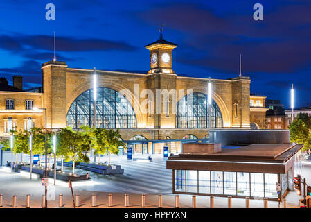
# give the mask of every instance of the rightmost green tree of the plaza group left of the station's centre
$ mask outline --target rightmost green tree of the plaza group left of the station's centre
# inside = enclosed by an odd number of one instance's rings
[[[121,140],[121,135],[119,130],[106,130],[107,132],[104,135],[105,146],[107,147],[107,152],[109,153],[109,166],[111,163],[110,155],[118,154],[119,147],[124,146],[123,141]]]

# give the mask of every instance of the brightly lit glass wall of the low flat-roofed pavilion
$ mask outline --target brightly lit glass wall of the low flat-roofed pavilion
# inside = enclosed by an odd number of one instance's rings
[[[287,175],[281,174],[282,195]],[[278,198],[276,173],[175,170],[175,192]]]

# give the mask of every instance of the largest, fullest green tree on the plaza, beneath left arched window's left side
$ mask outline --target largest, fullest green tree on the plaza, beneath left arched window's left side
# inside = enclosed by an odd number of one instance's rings
[[[66,162],[73,162],[73,174],[75,174],[75,162],[89,162],[87,153],[91,149],[93,139],[84,131],[75,132],[70,126],[62,128],[57,137],[57,153],[65,157]]]

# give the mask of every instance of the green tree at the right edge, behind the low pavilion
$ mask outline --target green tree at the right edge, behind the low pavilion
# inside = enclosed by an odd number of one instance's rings
[[[300,113],[288,127],[290,129],[290,141],[303,144],[304,150],[311,148],[311,117]]]

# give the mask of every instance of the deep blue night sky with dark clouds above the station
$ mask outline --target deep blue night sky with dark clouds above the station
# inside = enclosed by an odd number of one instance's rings
[[[56,20],[46,21],[54,3]],[[253,6],[263,4],[263,21]],[[178,44],[173,69],[179,76],[252,79],[251,92],[295,106],[311,103],[311,1],[100,1],[1,0],[0,76],[24,76],[24,87],[41,86],[41,65],[53,58],[69,67],[149,70],[144,46],[159,38]]]

